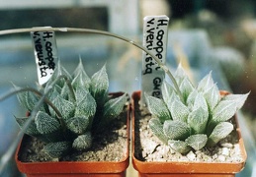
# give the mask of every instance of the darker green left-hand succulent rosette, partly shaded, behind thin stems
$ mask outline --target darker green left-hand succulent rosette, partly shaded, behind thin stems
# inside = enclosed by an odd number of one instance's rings
[[[39,87],[38,91],[18,93],[22,106],[31,112],[45,90],[49,90],[25,133],[45,142],[43,150],[53,158],[61,157],[72,148],[90,148],[93,135],[106,128],[123,111],[127,102],[126,94],[109,97],[108,88],[105,65],[90,79],[81,61],[73,75],[58,64],[44,87]],[[28,117],[16,117],[20,127],[27,120]]]

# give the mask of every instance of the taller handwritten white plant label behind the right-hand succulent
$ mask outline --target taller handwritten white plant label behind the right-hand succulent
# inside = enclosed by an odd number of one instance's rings
[[[169,18],[167,16],[146,16],[143,20],[143,46],[162,63],[166,61],[166,47]],[[141,101],[145,104],[144,93],[161,97],[164,71],[146,52],[142,53]]]

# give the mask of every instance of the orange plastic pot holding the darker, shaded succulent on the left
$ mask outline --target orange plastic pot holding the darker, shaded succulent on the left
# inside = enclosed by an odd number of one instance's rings
[[[115,93],[121,95],[122,92]],[[18,169],[28,177],[61,177],[61,176],[90,176],[90,177],[122,177],[126,176],[126,169],[129,163],[129,107],[127,112],[127,152],[121,161],[49,161],[49,162],[22,162],[19,159],[20,149],[24,140],[29,136],[25,135],[16,150],[15,160]]]

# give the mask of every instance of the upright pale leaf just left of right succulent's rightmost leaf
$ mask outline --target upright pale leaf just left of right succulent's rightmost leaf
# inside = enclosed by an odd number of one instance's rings
[[[204,92],[204,97],[206,98],[210,111],[212,112],[214,107],[220,100],[220,94],[219,90],[217,89],[217,86],[214,84],[212,88],[207,89]]]

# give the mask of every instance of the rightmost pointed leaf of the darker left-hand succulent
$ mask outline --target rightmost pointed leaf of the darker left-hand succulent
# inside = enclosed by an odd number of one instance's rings
[[[124,93],[122,96],[110,99],[104,104],[103,117],[105,120],[112,120],[116,118],[124,109],[127,102],[127,94]]]

